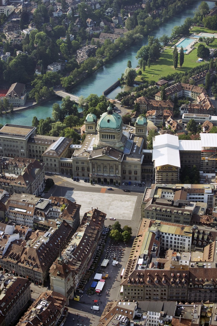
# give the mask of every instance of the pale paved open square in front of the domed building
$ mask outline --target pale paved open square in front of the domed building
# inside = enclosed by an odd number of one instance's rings
[[[107,214],[107,218],[114,217],[117,220],[130,221],[137,200],[137,196],[115,194],[115,191],[93,193],[67,190],[65,197],[81,205],[80,216],[91,210],[91,207],[98,207],[100,211]]]

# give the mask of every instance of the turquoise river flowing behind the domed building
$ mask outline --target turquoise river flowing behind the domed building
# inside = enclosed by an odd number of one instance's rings
[[[160,27],[156,28],[156,30],[150,33],[150,35],[154,37],[161,37],[163,34],[170,35],[174,26],[182,25],[187,17],[194,16],[194,11],[201,4],[201,2],[202,1],[198,1],[194,5],[189,6],[178,16],[173,17],[169,22],[166,22]],[[213,7],[213,2],[207,1],[207,3],[210,8]],[[135,58],[136,53],[142,45],[146,44],[147,37],[144,37],[142,42],[139,44],[134,44],[116,56],[109,63],[106,63],[103,67],[97,69],[82,82],[79,82],[70,90],[70,93],[78,97],[81,95],[87,97],[90,94],[97,94],[98,96],[101,96],[104,90],[106,90],[110,85],[115,83],[118,78],[121,77],[121,74],[127,67],[128,60],[131,61],[132,67],[136,67],[138,65],[138,60]],[[113,96],[113,93],[110,93],[109,95],[111,98],[115,98],[115,96]],[[19,111],[0,116],[0,123],[31,125],[34,116],[37,116],[38,119],[46,118],[47,116],[51,117],[53,103],[61,104],[61,99],[55,97],[53,100],[49,100],[46,103],[35,106],[31,110]]]

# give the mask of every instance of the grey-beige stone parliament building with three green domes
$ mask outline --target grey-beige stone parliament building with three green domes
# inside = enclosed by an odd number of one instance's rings
[[[109,106],[99,121],[85,120],[86,138],[72,145],[73,175],[95,183],[142,182],[153,174],[151,154],[146,151],[147,120],[139,116],[135,126],[123,126],[121,116]],[[61,173],[65,170],[62,168]]]

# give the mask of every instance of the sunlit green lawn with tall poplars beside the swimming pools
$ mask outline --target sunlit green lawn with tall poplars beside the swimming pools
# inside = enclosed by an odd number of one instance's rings
[[[208,28],[204,28],[204,27],[193,27],[190,31],[190,34],[193,33],[200,33],[200,32],[204,32],[204,33],[216,33],[217,31],[212,31],[209,30]],[[177,43],[178,40],[173,42],[173,45],[175,43]],[[189,53],[189,54],[185,54],[184,55],[184,63],[182,68],[179,67],[179,62],[178,62],[178,67],[175,69],[173,67],[173,62],[172,62],[172,52],[173,49],[171,49],[170,47],[172,46],[171,44],[169,45],[169,47],[166,47],[166,49],[161,53],[160,55],[160,59],[158,61],[155,61],[151,64],[150,68],[146,67],[145,71],[143,72],[142,70],[142,75],[138,75],[138,71],[140,69],[137,70],[137,77],[136,77],[136,81],[141,82],[141,77],[144,76],[147,80],[154,80],[154,81],[158,81],[161,79],[162,76],[167,76],[168,74],[174,73],[174,72],[186,72],[191,70],[194,67],[200,66],[201,64],[204,64],[206,62],[209,62],[210,60],[207,61],[203,61],[202,63],[196,62],[198,57],[197,57],[197,47],[200,43],[197,42],[194,47],[195,49]],[[205,46],[206,43],[203,43]],[[212,44],[209,45],[209,48],[213,48],[216,49],[217,48],[217,39],[215,38],[214,42]]]

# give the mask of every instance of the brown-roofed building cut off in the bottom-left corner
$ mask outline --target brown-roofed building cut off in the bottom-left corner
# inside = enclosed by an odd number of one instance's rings
[[[1,282],[0,325],[13,325],[31,301],[31,282],[22,277],[8,277]]]

